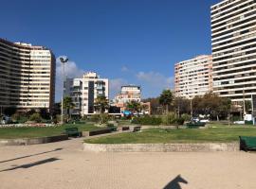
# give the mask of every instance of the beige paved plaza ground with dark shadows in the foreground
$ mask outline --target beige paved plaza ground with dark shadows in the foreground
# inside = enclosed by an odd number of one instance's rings
[[[91,153],[82,139],[0,146],[1,189],[256,188],[256,153]]]

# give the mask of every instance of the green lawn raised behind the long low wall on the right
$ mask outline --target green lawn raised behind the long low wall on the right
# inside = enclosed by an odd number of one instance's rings
[[[256,128],[145,129],[85,140],[92,144],[204,143],[238,141],[238,136],[256,136]]]

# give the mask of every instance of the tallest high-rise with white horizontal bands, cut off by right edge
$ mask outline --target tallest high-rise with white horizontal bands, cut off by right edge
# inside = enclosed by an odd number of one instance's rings
[[[213,92],[234,102],[256,94],[256,0],[211,7]]]

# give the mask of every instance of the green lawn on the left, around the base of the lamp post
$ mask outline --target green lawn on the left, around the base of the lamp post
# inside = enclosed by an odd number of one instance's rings
[[[86,124],[65,124],[64,126],[54,128],[5,128],[0,129],[0,139],[13,139],[13,138],[34,138],[44,136],[54,136],[64,133],[65,128],[79,128],[80,131],[89,131],[99,129],[94,125]]]

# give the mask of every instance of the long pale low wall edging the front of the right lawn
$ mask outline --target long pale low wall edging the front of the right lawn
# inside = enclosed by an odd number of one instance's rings
[[[84,151],[94,152],[210,152],[239,151],[239,143],[198,143],[198,144],[120,144],[103,145],[83,143]]]

